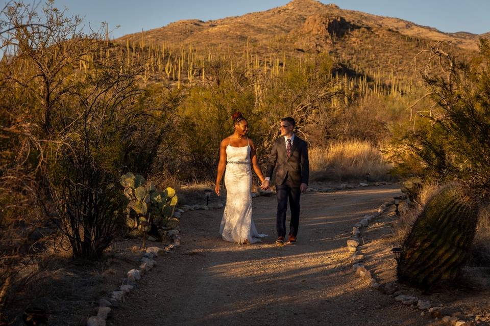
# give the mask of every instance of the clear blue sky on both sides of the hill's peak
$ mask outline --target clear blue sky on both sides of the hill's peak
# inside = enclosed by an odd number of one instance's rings
[[[25,3],[32,2],[24,0]],[[287,4],[288,0],[55,0],[59,9],[84,17],[85,24],[109,23],[111,37],[159,28],[180,19],[239,16]],[[330,1],[322,0],[328,4]],[[36,1],[39,4],[39,1]],[[443,32],[490,32],[490,0],[337,0],[342,9],[406,19]],[[120,28],[114,30],[116,25]]]

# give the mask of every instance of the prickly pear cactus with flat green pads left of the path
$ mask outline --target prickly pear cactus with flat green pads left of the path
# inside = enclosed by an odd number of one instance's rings
[[[129,172],[121,176],[124,194],[130,200],[128,208],[135,218],[128,218],[127,224],[131,229],[140,229],[140,223],[149,222],[153,233],[165,227],[174,215],[178,197],[173,188],[160,190],[153,182],[146,182],[140,175]],[[151,232],[151,231],[150,231]]]

